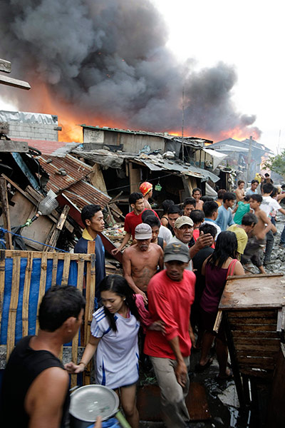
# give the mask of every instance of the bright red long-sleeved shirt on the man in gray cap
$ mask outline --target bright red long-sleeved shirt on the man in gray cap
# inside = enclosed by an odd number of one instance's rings
[[[190,308],[195,297],[196,277],[190,270],[183,272],[181,281],[172,281],[162,270],[147,285],[148,309],[153,321],[165,322],[165,334],[147,330],[144,352],[151,357],[171,358],[175,355],[168,340],[179,337],[183,357],[191,353],[189,335]]]

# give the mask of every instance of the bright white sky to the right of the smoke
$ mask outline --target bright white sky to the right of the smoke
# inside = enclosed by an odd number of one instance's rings
[[[153,0],[165,17],[167,46],[197,69],[218,61],[234,65],[233,99],[243,113],[257,115],[260,143],[285,148],[284,1]]]

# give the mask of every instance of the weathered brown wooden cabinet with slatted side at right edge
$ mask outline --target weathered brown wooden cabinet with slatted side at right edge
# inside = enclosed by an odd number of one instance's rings
[[[243,275],[227,280],[219,310],[241,405],[254,399],[255,380],[270,384],[273,379],[284,342],[284,305],[283,275]]]

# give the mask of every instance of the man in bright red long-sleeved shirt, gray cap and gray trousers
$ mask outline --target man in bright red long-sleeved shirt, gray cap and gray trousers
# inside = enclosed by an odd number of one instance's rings
[[[160,386],[167,428],[184,428],[190,422],[185,397],[194,340],[190,308],[195,297],[195,274],[185,270],[189,263],[189,248],[180,241],[165,247],[164,260],[166,269],[152,277],[147,297],[152,320],[164,322],[165,331],[147,330],[144,352],[150,355]]]

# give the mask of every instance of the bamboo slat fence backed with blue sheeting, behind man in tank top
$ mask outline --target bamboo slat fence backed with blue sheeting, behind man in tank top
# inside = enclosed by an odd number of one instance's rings
[[[38,267],[38,278],[35,281],[36,265],[40,267]],[[71,270],[73,271],[72,278]],[[61,277],[59,281],[58,277]],[[73,284],[68,282],[71,279]],[[32,283],[33,290],[36,290],[38,294],[33,302],[31,302]],[[78,350],[79,332],[73,338],[72,346],[64,347],[66,360],[78,362],[78,351],[81,351],[79,354],[82,354],[82,347],[86,346],[90,335],[95,298],[95,254],[0,250],[0,331],[1,337],[3,336],[2,333],[6,335],[6,343],[1,340],[0,345],[0,368],[4,368],[4,361],[8,360],[11,351],[14,349],[16,339],[19,340],[21,337],[31,334],[31,331],[33,331],[32,334],[38,332],[38,307],[46,290],[54,285],[75,285],[81,292],[83,292],[83,287],[85,288],[86,308],[83,328],[81,329],[81,350]],[[8,293],[11,294],[10,300],[7,297]],[[31,322],[32,311],[36,314],[33,322]],[[21,317],[22,322],[20,333],[19,325],[16,326],[16,319],[19,317]],[[4,330],[6,331],[4,332]],[[76,383],[77,375],[75,374],[71,379],[71,387],[75,386]],[[90,365],[86,367],[83,383],[90,383]]]

